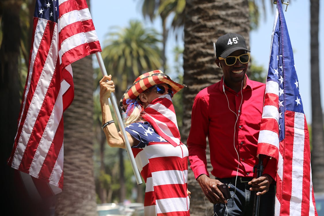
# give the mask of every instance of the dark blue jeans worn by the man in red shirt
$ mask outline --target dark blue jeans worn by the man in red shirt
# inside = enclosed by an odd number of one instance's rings
[[[218,216],[252,216],[255,192],[249,190],[251,186],[248,185],[248,182],[240,182],[239,177],[237,177],[236,191],[234,195],[235,181],[231,181],[230,178],[217,179],[228,184],[230,187],[229,191],[231,193],[231,199],[227,200],[226,205],[223,203],[215,204],[214,213]],[[274,215],[275,193],[275,184],[271,184],[269,191],[260,196],[259,216]]]

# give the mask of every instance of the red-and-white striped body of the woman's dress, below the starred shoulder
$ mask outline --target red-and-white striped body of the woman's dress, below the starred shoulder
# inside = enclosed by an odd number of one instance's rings
[[[135,161],[145,180],[145,216],[188,215],[188,149],[180,144],[151,142],[133,148]],[[154,198],[154,199],[153,199]]]

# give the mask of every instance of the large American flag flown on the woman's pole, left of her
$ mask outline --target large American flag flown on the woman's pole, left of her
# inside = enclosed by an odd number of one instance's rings
[[[32,176],[25,181],[29,186],[45,180],[57,194],[63,188],[63,112],[74,97],[70,64],[101,48],[85,0],[36,0],[33,20],[28,75],[8,165],[21,176]]]

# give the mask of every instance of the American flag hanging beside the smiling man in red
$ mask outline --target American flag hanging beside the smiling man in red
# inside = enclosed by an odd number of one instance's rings
[[[272,31],[258,154],[277,161],[275,215],[317,215],[309,133],[280,1]]]

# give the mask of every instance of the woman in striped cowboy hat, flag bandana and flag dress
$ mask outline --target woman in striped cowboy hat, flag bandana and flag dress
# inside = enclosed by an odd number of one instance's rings
[[[121,98],[126,134],[146,183],[144,214],[188,216],[188,149],[180,133],[171,98],[185,85],[160,70],[139,76]],[[114,92],[111,75],[100,81],[103,130],[111,147],[125,148],[108,104]]]

